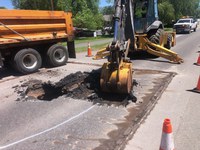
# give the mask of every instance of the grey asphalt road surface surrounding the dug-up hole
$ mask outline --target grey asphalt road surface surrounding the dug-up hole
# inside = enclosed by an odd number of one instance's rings
[[[188,91],[196,86],[200,75],[199,66],[193,65],[200,49],[199,39],[199,30],[177,35],[173,50],[183,57],[184,64],[171,64],[162,58],[132,60],[133,78],[139,85],[134,87],[137,101],[127,105],[94,103],[65,95],[51,101],[20,97],[26,88],[21,85],[27,81],[57,82],[77,71],[98,70],[106,61],[93,61],[84,53],[66,66],[43,68],[31,75],[1,70],[0,149],[154,150],[159,149],[165,117],[174,123],[176,149],[199,149],[200,95]],[[151,107],[144,108],[150,100]]]

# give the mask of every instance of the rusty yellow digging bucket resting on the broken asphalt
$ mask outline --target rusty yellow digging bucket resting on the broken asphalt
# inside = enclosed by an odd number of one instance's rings
[[[128,94],[132,90],[132,63],[122,62],[118,69],[111,69],[110,62],[101,70],[100,86],[103,92]]]

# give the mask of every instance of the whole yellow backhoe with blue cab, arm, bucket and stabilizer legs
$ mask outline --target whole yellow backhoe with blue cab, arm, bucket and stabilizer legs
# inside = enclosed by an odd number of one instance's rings
[[[133,66],[127,57],[131,51],[147,51],[173,63],[183,62],[170,50],[176,43],[176,34],[164,31],[158,20],[157,0],[115,0],[113,22],[113,41],[94,58],[108,57],[100,77],[103,92],[128,94],[132,91]]]

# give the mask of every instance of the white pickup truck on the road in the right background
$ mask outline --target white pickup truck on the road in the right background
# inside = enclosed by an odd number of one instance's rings
[[[192,30],[196,32],[197,22],[193,18],[179,19],[173,28],[176,33],[187,32],[190,34]]]

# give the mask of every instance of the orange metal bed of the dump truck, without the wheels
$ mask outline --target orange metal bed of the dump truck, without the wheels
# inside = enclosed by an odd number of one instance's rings
[[[48,40],[73,41],[72,14],[63,11],[0,10],[0,47]]]

